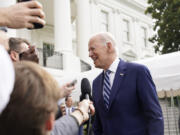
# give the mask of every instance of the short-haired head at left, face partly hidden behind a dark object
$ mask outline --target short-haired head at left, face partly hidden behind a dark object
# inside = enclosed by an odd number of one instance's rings
[[[9,38],[9,55],[12,61],[17,62],[20,60],[20,54],[29,49],[29,44],[22,38]]]

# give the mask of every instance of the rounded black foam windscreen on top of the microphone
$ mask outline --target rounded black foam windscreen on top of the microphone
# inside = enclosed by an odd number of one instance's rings
[[[81,81],[81,93],[84,94],[91,94],[91,85],[87,78],[83,78]]]

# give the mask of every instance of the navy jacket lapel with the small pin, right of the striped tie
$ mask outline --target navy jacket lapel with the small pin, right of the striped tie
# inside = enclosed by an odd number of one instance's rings
[[[120,60],[120,63],[118,65],[118,68],[114,77],[113,86],[111,89],[112,91],[111,91],[111,96],[110,96],[109,110],[111,108],[113,100],[115,99],[115,96],[120,90],[121,82],[125,77],[125,71],[126,71],[126,63],[123,60]]]

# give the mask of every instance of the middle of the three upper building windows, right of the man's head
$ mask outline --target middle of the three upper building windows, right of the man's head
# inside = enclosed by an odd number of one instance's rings
[[[129,42],[130,41],[130,28],[129,21],[123,20],[123,40]]]

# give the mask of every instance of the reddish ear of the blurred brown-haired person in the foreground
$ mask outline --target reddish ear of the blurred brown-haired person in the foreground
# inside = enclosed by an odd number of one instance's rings
[[[45,123],[45,129],[47,131],[51,131],[53,129],[54,120],[55,120],[55,114],[54,113],[50,113],[49,118],[48,118],[48,120]]]

